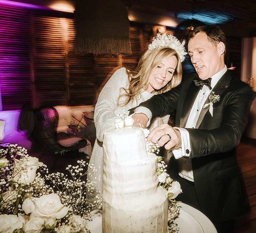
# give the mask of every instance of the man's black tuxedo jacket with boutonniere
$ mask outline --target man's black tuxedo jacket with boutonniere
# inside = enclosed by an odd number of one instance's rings
[[[185,127],[199,88],[193,80],[197,74],[183,78],[171,91],[156,95],[140,104],[152,112],[152,119],[176,110],[176,127]],[[227,71],[213,90],[220,101],[202,109],[196,128],[186,128],[190,136],[194,184],[204,214],[213,222],[234,219],[249,210],[248,198],[237,165],[235,148],[247,124],[255,93],[244,82],[232,78]],[[208,99],[207,99],[208,100]],[[207,103],[207,102],[206,102]],[[178,173],[177,160],[172,157],[171,177]]]

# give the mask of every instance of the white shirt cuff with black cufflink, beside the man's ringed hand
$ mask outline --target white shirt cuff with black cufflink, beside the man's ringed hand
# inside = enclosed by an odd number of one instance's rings
[[[173,155],[176,159],[181,158],[183,156],[188,157],[191,151],[190,141],[189,141],[189,132],[185,128],[177,128],[180,131],[181,135],[181,148],[173,149]]]

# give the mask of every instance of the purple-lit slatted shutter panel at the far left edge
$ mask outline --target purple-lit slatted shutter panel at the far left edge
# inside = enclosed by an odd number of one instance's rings
[[[0,5],[0,80],[4,110],[31,103],[29,12]]]

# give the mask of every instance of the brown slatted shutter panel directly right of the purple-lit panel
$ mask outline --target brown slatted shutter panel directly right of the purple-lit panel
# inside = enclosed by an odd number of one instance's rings
[[[37,106],[67,105],[65,36],[60,18],[34,15]]]

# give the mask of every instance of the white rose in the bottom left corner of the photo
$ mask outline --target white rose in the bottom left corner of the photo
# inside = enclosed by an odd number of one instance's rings
[[[20,215],[1,214],[0,233],[12,233],[15,229],[22,228],[25,221],[25,218]]]

